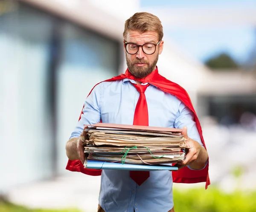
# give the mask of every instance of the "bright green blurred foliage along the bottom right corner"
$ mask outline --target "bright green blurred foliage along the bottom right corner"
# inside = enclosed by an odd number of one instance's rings
[[[231,194],[209,186],[207,190],[174,189],[175,212],[256,212],[256,192]]]

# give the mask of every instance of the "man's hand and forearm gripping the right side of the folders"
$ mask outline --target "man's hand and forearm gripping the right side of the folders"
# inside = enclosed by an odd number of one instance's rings
[[[205,148],[197,141],[190,139],[187,134],[187,127],[183,127],[181,134],[186,139],[186,158],[182,162],[178,162],[175,166],[179,169],[189,165],[192,169],[202,169],[208,159]]]

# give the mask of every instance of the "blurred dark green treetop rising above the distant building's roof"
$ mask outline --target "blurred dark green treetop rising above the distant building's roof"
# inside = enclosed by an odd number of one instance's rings
[[[225,53],[222,53],[216,57],[208,59],[205,64],[209,68],[213,69],[237,69],[239,66],[237,63]]]

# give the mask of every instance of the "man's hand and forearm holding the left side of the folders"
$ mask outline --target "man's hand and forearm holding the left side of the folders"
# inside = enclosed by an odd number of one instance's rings
[[[66,144],[66,154],[71,160],[80,160],[83,164],[85,161],[84,144],[83,141],[86,140],[86,132],[82,131],[80,137],[73,138],[67,141]]]

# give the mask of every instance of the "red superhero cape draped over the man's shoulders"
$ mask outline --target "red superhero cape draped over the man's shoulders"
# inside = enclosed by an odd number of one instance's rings
[[[198,120],[198,117],[195,113],[195,109],[192,105],[192,102],[189,98],[188,93],[184,88],[182,88],[180,85],[177,85],[174,82],[169,81],[165,77],[161,76],[158,73],[158,70],[156,68],[155,71],[153,71],[151,74],[146,76],[144,79],[137,79],[134,76],[131,75],[130,71],[128,69],[126,70],[125,74],[121,74],[119,76],[115,76],[111,79],[107,79],[103,82],[108,82],[108,81],[115,81],[115,80],[121,80],[121,79],[136,79],[142,83],[148,82],[151,85],[156,86],[157,88],[160,88],[166,93],[170,93],[174,96],[176,96],[180,101],[182,101],[187,107],[189,107],[190,110],[195,114],[195,123],[198,128],[198,132],[201,137],[201,141],[204,144],[204,138],[202,134],[202,128],[200,125],[200,122]],[[100,82],[101,83],[101,82]],[[99,84],[99,83],[98,83]],[[97,84],[97,85],[98,85]],[[96,86],[96,85],[95,85]],[[94,87],[95,87],[94,86]],[[94,88],[93,87],[93,88]],[[92,89],[93,90],[93,89]],[[91,93],[91,92],[90,92]],[[90,95],[89,93],[89,95]],[[89,96],[88,95],[88,96]],[[83,110],[81,114],[83,113]],[[81,119],[81,115],[79,120]],[[204,147],[206,148],[205,144]],[[173,182],[175,183],[199,183],[199,182],[206,182],[205,188],[207,189],[208,185],[210,184],[210,179],[209,179],[209,174],[208,174],[208,168],[209,168],[209,162],[204,167],[203,170],[190,170],[188,167],[184,167],[176,172],[172,172],[172,178]],[[81,163],[80,160],[75,160],[75,161],[68,161],[67,163],[67,170],[73,171],[73,172],[82,172],[87,175],[93,175],[93,176],[98,176],[101,175],[102,170],[90,170],[90,169],[84,169],[83,164]]]

